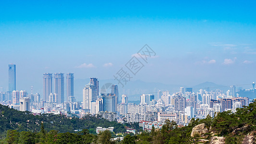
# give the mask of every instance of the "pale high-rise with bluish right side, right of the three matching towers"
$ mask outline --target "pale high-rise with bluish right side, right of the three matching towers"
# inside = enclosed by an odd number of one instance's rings
[[[90,109],[91,102],[95,102],[98,98],[97,87],[93,84],[85,85],[83,89],[83,108]]]

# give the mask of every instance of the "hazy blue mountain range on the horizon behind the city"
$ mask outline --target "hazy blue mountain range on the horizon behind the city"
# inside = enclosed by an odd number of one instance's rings
[[[85,87],[85,84],[89,83],[88,79],[76,79],[74,80],[74,95],[77,97],[77,100],[83,99],[83,88]],[[99,79],[98,79],[99,80]],[[109,80],[99,80],[99,89],[102,88],[104,84],[118,84],[117,81],[113,79]],[[180,91],[180,87],[192,87],[193,92],[197,92],[199,89],[207,89],[209,90],[215,90],[220,89],[223,91],[228,90],[228,86],[215,84],[211,82],[205,82],[202,84],[197,84],[195,86],[186,86],[186,85],[179,85],[179,84],[162,84],[162,83],[149,83],[144,82],[141,80],[136,81],[130,81],[126,85],[122,87],[122,84],[118,84],[119,89],[119,99],[121,100],[122,94],[128,95],[129,100],[139,100],[141,94],[153,94],[157,96],[158,90],[161,91],[169,91],[170,94],[176,93]],[[107,90],[108,93],[110,93],[110,89]]]

